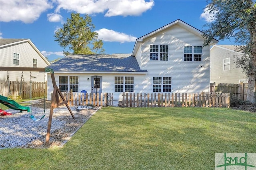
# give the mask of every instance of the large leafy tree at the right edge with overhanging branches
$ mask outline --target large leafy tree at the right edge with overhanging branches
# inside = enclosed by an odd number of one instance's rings
[[[211,0],[204,9],[212,16],[212,22],[203,30],[204,45],[213,38],[219,40],[234,38],[237,50],[246,53],[249,62],[242,68],[248,76],[247,101],[256,102],[256,4],[254,0]],[[247,65],[246,65],[247,64]],[[239,65],[238,65],[239,66]],[[241,65],[240,65],[241,66]]]

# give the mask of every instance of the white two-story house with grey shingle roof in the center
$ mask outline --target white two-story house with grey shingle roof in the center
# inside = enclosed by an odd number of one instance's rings
[[[135,42],[132,54],[68,55],[52,63],[61,91],[201,93],[210,86],[210,45],[202,32],[176,20]],[[48,75],[48,100],[53,91]]]

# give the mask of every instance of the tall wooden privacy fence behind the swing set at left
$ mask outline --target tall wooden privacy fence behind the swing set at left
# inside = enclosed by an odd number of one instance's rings
[[[10,91],[9,93],[9,83],[10,83]],[[22,84],[21,84],[22,83]],[[20,89],[21,85],[21,89]],[[35,82],[32,81],[30,86],[30,81],[0,81],[0,93],[2,96],[8,97],[10,95],[12,96],[19,96],[19,93],[21,91],[21,97],[22,99],[30,99],[30,87],[32,88],[32,97],[43,97],[44,91],[47,95],[47,82]],[[16,98],[14,98],[16,99]]]

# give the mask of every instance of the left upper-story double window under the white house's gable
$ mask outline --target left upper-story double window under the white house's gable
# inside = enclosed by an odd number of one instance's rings
[[[150,45],[150,60],[168,61],[168,45]]]

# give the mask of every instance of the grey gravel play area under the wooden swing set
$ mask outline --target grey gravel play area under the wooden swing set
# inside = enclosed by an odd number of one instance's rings
[[[30,102],[30,101],[29,101]],[[84,123],[99,109],[77,110],[78,106],[70,106],[75,119],[66,105],[53,110],[52,126],[48,146],[45,138],[50,115],[50,101],[46,101],[45,117],[40,121],[30,119],[30,113],[8,109],[10,116],[0,116],[0,148],[48,148],[63,146]],[[30,106],[30,103],[28,103]],[[44,101],[32,101],[32,114],[37,119],[44,115]]]

